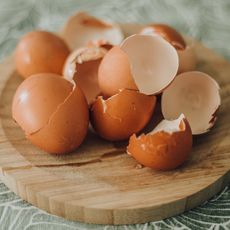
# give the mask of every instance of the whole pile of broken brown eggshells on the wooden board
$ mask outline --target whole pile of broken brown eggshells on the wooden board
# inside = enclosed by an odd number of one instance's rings
[[[124,39],[118,25],[77,13],[59,35],[33,31],[19,41],[15,65],[24,81],[13,119],[48,153],[77,149],[90,122],[108,141],[129,139],[127,153],[141,165],[173,169],[220,106],[217,82],[194,71],[196,62],[193,44],[170,26],[152,24]],[[157,104],[164,119],[144,134]]]

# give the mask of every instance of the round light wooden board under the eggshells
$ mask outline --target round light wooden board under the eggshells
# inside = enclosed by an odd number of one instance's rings
[[[126,32],[136,27],[128,26]],[[0,64],[0,173],[16,194],[49,213],[87,223],[131,224],[180,214],[219,192],[230,179],[230,63],[195,42],[198,69],[220,84],[222,105],[208,134],[194,137],[190,159],[177,170],[137,167],[127,143],[108,143],[89,132],[65,156],[32,146],[11,118],[22,81],[10,57]]]

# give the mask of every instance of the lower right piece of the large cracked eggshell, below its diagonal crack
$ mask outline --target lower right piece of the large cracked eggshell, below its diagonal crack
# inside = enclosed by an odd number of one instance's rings
[[[68,153],[85,139],[89,125],[88,107],[81,89],[71,95],[50,118],[50,122],[27,138],[49,153]]]

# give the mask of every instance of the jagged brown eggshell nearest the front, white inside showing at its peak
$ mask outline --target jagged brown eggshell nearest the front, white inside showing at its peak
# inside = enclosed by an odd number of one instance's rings
[[[170,170],[182,165],[191,149],[191,128],[181,114],[176,120],[163,120],[148,134],[132,135],[127,153],[146,167]]]

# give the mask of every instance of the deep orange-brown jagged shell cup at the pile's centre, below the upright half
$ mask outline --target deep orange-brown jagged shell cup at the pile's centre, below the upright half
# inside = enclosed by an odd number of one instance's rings
[[[155,96],[124,89],[107,100],[97,98],[91,107],[91,123],[104,139],[125,140],[147,125],[155,104]]]

